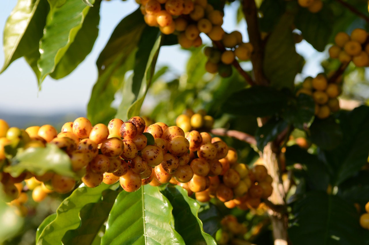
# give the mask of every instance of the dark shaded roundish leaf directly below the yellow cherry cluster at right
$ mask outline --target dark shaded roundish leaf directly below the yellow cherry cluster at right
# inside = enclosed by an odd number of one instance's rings
[[[310,138],[322,149],[333,149],[341,143],[342,131],[331,117],[324,120],[315,118],[310,126]]]

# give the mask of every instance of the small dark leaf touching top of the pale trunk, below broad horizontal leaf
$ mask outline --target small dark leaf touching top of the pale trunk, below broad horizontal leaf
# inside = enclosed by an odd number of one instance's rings
[[[266,144],[275,140],[287,126],[288,123],[286,121],[272,118],[261,128],[258,128],[255,132],[256,146],[258,146],[258,149],[263,151]]]

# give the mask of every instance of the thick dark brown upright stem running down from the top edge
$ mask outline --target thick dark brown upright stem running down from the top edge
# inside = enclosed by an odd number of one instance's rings
[[[251,55],[252,68],[256,84],[267,86],[268,80],[263,73],[264,47],[258,25],[258,11],[255,0],[243,0],[242,11],[244,12],[249,40],[254,47],[254,53]]]

